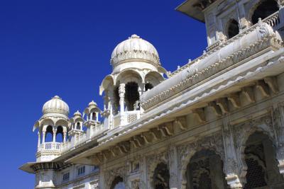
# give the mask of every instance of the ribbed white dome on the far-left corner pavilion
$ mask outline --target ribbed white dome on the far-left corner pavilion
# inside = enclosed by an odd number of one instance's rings
[[[59,96],[55,96],[43,105],[43,114],[47,113],[62,113],[68,116],[69,106]]]

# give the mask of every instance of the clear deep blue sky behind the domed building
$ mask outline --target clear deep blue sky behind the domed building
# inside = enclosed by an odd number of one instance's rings
[[[175,11],[182,1],[0,1],[1,188],[33,188],[18,167],[35,161],[45,101],[58,95],[71,114],[92,99],[102,108],[111,52],[131,34],[153,43],[169,71],[202,55],[204,24]]]

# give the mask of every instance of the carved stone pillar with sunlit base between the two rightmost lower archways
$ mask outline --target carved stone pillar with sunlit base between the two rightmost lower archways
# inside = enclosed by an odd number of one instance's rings
[[[240,176],[240,163],[237,161],[234,135],[229,118],[223,118],[222,136],[224,142],[224,173],[226,174],[226,182],[230,188],[243,188],[244,181]]]

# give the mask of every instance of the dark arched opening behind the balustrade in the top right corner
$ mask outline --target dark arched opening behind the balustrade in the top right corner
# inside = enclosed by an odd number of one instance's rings
[[[278,3],[275,0],[264,0],[259,4],[256,10],[253,12],[253,16],[251,16],[251,22],[253,24],[258,23],[258,18],[264,19],[271,14],[278,11]]]

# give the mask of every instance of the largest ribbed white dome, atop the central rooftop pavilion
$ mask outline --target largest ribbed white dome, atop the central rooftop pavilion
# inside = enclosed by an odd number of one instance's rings
[[[154,66],[160,66],[159,55],[155,47],[135,34],[119,43],[111,54],[113,67],[131,61],[148,62]]]

